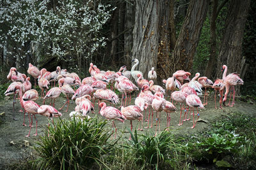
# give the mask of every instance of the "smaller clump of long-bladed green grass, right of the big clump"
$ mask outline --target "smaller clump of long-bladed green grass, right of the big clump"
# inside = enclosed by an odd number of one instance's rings
[[[134,153],[136,163],[141,166],[156,169],[166,165],[176,167],[183,160],[180,153],[186,151],[186,147],[175,143],[173,135],[166,131],[157,136],[138,135],[135,131],[131,138],[126,147]]]

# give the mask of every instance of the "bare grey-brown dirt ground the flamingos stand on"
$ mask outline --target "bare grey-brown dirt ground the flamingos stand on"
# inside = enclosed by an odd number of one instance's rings
[[[209,125],[207,122],[214,120],[217,117],[220,117],[221,115],[226,115],[229,113],[244,113],[248,115],[256,116],[256,105],[252,103],[244,103],[241,101],[236,100],[236,105],[234,107],[225,107],[222,110],[215,109],[214,108],[214,92],[211,92],[211,95],[209,97],[209,104],[205,106],[205,109],[202,109],[199,111],[200,113],[200,119],[204,121],[198,121],[196,124],[195,129],[191,129],[190,127],[193,125],[193,117],[191,117],[191,120],[184,122],[182,126],[178,126],[179,124],[179,116],[180,116],[180,106],[179,104],[175,105],[177,107],[177,111],[175,113],[171,113],[171,123],[170,123],[170,130],[177,133],[186,133],[186,134],[195,134],[197,131],[201,131],[204,127],[207,127]],[[135,96],[135,94],[134,94]],[[201,97],[202,100],[204,96]],[[168,99],[168,97],[166,97]],[[134,103],[134,98],[132,99],[132,104]],[[49,100],[46,101],[45,104],[49,104]],[[36,101],[39,105],[42,104],[42,99],[38,99]],[[60,97],[59,99],[56,99],[55,108],[60,108],[65,103],[65,98]],[[109,105],[109,104],[108,104]],[[19,100],[17,100],[17,103],[15,104],[15,117],[18,120],[12,119],[12,97],[9,99],[5,99],[0,104],[0,169],[4,169],[4,165],[6,164],[17,164],[17,162],[23,161],[28,159],[31,155],[33,155],[32,147],[36,145],[36,139],[39,138],[40,135],[43,134],[45,131],[45,127],[48,124],[48,120],[46,117],[43,117],[41,115],[37,115],[36,118],[38,119],[38,136],[33,136],[35,134],[35,121],[33,121],[34,127],[31,129],[31,136],[29,138],[26,138],[26,135],[29,132],[29,126],[22,126],[23,122],[23,112],[19,112],[20,110],[20,103]],[[69,113],[70,111],[73,111],[75,108],[75,103],[70,103],[70,106],[68,108],[68,112],[65,112],[67,110],[67,107],[64,107],[62,111],[60,111],[63,116],[62,118],[70,119]],[[95,112],[98,113],[98,105],[95,104]],[[184,113],[184,112],[183,112]],[[147,112],[148,114],[148,112]],[[145,113],[143,114],[145,117]],[[98,117],[100,119],[104,119],[99,114],[92,114],[90,113],[91,117]],[[147,115],[148,117],[148,115]],[[196,117],[195,117],[196,118]],[[145,120],[145,119],[144,119]],[[150,118],[151,120],[151,118]],[[124,124],[122,122],[115,121],[116,126],[118,127],[118,136],[121,136],[122,131],[125,133],[123,134],[122,138],[129,138],[129,131],[127,130],[130,128],[130,121],[126,120]],[[26,124],[28,125],[28,115],[26,115]],[[138,131],[140,133],[147,132],[148,134],[154,134],[154,131],[156,129],[156,113],[154,112],[154,120],[153,120],[153,128],[145,129],[143,128],[143,131]],[[143,126],[147,127],[147,122],[143,122]],[[109,127],[109,132],[112,131],[111,127],[112,124],[109,122],[106,127]],[[138,121],[133,121],[133,127],[134,129],[138,129]],[[166,128],[166,113],[161,113],[161,131],[164,131]],[[157,127],[158,130],[158,127]],[[134,131],[134,130],[133,130]],[[159,132],[159,131],[158,131]]]

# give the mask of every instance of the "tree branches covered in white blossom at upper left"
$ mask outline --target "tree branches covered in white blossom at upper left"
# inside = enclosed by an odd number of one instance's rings
[[[106,44],[100,30],[111,15],[110,5],[78,0],[0,3],[0,48],[7,49],[6,56],[19,66],[48,56],[81,68],[82,59],[92,59]]]

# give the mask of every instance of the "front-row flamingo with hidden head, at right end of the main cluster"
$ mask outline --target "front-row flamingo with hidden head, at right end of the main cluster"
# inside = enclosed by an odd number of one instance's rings
[[[188,97],[186,97],[186,104],[188,104],[189,107],[193,108],[193,126],[191,128],[195,128],[196,122],[199,118],[198,108],[204,108],[204,105],[202,104],[200,97],[196,96],[195,94],[190,94]],[[194,108],[196,108],[197,111],[196,122]]]

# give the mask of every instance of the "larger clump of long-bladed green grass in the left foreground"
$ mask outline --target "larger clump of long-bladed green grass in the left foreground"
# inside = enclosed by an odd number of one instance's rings
[[[91,120],[61,120],[49,127],[40,138],[35,150],[41,157],[36,167],[53,169],[87,169],[95,162],[99,164],[101,155],[106,154],[106,144],[110,137],[105,132],[105,122]]]

